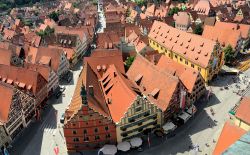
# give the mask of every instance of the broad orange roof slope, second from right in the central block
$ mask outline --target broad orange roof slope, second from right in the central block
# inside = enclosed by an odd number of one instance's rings
[[[159,70],[139,54],[126,74],[131,81],[138,85],[141,92],[144,95],[149,94],[149,99],[163,111],[168,108],[175,90],[178,89],[179,79],[177,77]],[[139,75],[142,78],[137,81]],[[159,89],[159,94],[157,98],[154,98],[150,94],[156,88]]]

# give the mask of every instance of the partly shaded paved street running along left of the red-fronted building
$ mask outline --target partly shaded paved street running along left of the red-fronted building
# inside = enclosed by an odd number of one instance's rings
[[[73,71],[70,83],[62,84],[66,89],[59,99],[50,99],[49,107],[42,115],[42,121],[32,123],[13,144],[11,155],[53,155],[53,148],[58,145],[60,155],[66,155],[63,130],[59,122],[73,96],[75,83],[81,71],[81,64]]]

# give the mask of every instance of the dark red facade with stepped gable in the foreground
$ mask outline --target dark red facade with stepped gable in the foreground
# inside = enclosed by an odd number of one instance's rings
[[[106,143],[116,143],[113,121],[88,106],[83,106],[82,110],[65,123],[64,136],[68,151],[89,150],[102,147]]]

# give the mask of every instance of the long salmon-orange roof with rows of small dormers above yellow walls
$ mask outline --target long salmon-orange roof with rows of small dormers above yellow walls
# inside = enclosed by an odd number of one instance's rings
[[[186,59],[206,68],[216,45],[215,41],[175,29],[155,21],[149,38],[178,53]]]

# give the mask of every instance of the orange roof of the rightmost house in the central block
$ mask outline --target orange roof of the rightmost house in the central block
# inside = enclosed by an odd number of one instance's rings
[[[200,74],[198,71],[193,68],[183,66],[164,55],[161,56],[156,66],[159,69],[163,69],[166,72],[179,77],[181,82],[188,89],[188,92],[192,93],[195,82],[198,80]]]

